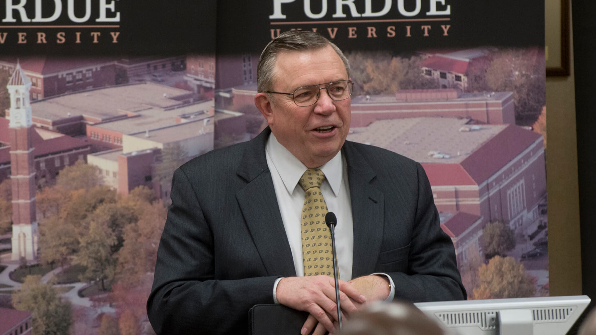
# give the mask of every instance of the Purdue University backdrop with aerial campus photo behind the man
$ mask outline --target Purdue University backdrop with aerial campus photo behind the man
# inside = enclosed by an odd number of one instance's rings
[[[291,29],[349,59],[347,139],[423,166],[470,299],[548,295],[544,2],[5,0],[0,308],[33,312],[15,324],[153,333],[173,171],[265,128],[257,61]],[[39,290],[61,312],[41,318]]]

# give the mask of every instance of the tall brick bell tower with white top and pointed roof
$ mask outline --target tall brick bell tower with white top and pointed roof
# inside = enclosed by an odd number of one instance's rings
[[[35,215],[35,160],[33,119],[29,101],[31,80],[19,63],[8,81],[10,94],[10,165],[13,187],[12,260],[38,259],[38,222]]]

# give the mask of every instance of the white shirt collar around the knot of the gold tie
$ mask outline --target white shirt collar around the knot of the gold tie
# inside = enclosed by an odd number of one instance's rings
[[[277,172],[280,174],[286,190],[289,194],[292,194],[303,173],[308,168],[281,145],[273,133],[269,134],[265,150],[269,154],[269,158],[275,166],[275,169],[277,169]],[[329,183],[334,195],[337,197],[340,187],[342,186],[342,151],[340,150],[336,156],[329,162],[320,166],[319,169],[325,174],[325,179]]]

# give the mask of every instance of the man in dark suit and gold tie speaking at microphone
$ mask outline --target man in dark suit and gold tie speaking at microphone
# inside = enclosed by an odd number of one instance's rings
[[[243,334],[257,303],[308,311],[302,334],[334,331],[334,281],[318,270],[329,258],[316,263],[308,249],[330,244],[313,207],[338,218],[344,314],[394,297],[465,299],[420,164],[346,141],[352,82],[337,46],[312,32],[283,33],[263,51],[257,83],[269,127],[174,174],[147,302],[157,333]]]

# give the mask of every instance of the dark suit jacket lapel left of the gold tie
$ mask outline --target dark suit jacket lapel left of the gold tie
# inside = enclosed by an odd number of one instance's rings
[[[247,143],[237,170],[247,184],[237,191],[236,199],[268,275],[290,277],[296,269],[265,158],[269,133],[266,128]]]

